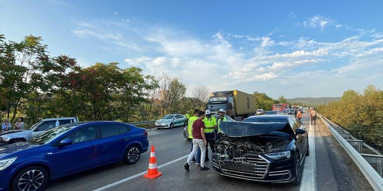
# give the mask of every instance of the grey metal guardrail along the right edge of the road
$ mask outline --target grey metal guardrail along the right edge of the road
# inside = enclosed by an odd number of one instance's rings
[[[330,129],[331,134],[351,157],[360,171],[366,177],[374,190],[383,190],[383,156],[364,143],[351,136],[349,132],[339,127],[321,114],[318,115],[323,123]],[[330,125],[331,123],[332,125]],[[364,154],[363,146],[375,154]],[[371,166],[376,165],[376,170]]]

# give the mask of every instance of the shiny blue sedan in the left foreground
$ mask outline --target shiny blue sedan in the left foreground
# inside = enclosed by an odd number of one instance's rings
[[[0,148],[0,190],[41,190],[49,179],[123,160],[148,150],[145,129],[118,122],[61,125]]]

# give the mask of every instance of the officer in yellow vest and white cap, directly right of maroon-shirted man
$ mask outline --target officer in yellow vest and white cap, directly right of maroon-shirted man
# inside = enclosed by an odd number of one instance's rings
[[[206,145],[206,159],[205,161],[209,161],[209,152],[208,145],[210,145],[210,149],[214,152],[214,129],[218,127],[217,120],[212,116],[210,110],[206,110],[205,119],[202,120],[205,124],[205,136],[208,141]],[[198,156],[197,156],[198,157]]]

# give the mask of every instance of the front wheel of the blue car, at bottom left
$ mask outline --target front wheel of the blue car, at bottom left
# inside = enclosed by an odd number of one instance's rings
[[[41,166],[21,170],[13,179],[13,190],[42,190],[48,182],[48,172]]]

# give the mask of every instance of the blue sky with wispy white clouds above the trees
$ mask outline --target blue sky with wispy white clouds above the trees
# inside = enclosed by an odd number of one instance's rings
[[[367,3],[368,2],[368,3]],[[383,88],[383,1],[11,1],[0,33],[51,56],[119,62],[273,98]]]

